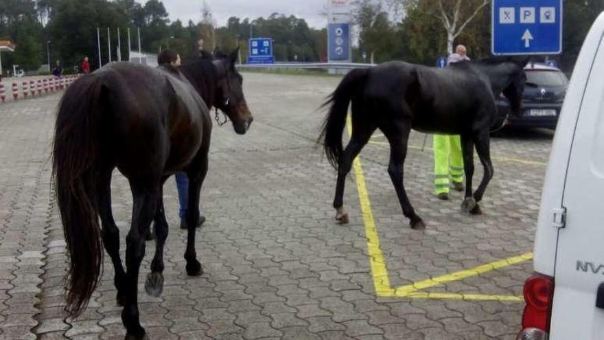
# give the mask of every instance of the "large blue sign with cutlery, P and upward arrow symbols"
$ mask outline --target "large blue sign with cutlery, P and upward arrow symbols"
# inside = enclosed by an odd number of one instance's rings
[[[493,54],[562,53],[562,0],[493,0]]]

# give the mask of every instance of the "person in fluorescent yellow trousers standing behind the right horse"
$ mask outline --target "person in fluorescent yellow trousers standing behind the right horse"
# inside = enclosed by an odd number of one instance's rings
[[[447,58],[447,64],[469,60],[464,45],[457,45],[455,53]],[[451,185],[463,190],[463,155],[458,135],[434,135],[434,192],[439,199],[449,199]]]

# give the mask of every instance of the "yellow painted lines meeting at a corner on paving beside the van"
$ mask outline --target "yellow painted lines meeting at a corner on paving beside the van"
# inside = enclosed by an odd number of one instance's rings
[[[347,118],[347,131],[352,134],[350,117]],[[481,266],[458,271],[439,277],[434,277],[428,280],[415,282],[406,286],[392,288],[390,279],[388,278],[388,270],[386,269],[386,261],[382,249],[380,249],[380,236],[377,234],[375,220],[373,219],[373,210],[369,201],[369,192],[365,184],[364,173],[361,166],[360,157],[356,157],[353,161],[353,170],[356,177],[356,185],[362,212],[363,224],[365,227],[365,236],[367,237],[367,251],[369,252],[369,264],[371,266],[371,276],[373,277],[373,285],[375,293],[379,297],[407,297],[411,299],[462,299],[462,300],[478,300],[478,301],[508,301],[522,302],[524,298],[516,295],[485,295],[485,294],[463,294],[463,293],[430,293],[421,292],[426,288],[446,284],[448,282],[463,280],[467,277],[473,277],[488,271],[494,271],[503,267],[508,267],[513,264],[526,262],[533,258],[532,253],[525,253],[520,256],[514,256],[504,260],[483,264]]]

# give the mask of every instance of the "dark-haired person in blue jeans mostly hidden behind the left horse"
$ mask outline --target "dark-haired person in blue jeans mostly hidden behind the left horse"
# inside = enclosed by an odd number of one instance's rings
[[[157,64],[160,68],[165,69],[170,73],[180,75],[178,67],[181,66],[181,56],[171,49],[165,49],[157,56]],[[180,209],[178,209],[178,217],[181,218],[181,229],[187,229],[187,208],[189,205],[189,178],[183,171],[176,172],[174,175],[176,178],[176,188],[178,189],[178,203]],[[199,216],[200,227],[205,222],[205,216]]]

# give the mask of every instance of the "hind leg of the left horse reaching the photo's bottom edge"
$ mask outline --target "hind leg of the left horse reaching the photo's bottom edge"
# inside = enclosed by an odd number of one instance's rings
[[[145,256],[145,236],[155,214],[159,181],[132,188],[134,192],[132,225],[126,236],[126,304],[121,312],[121,321],[126,327],[126,340],[142,340],[147,337],[139,317],[139,270]]]

